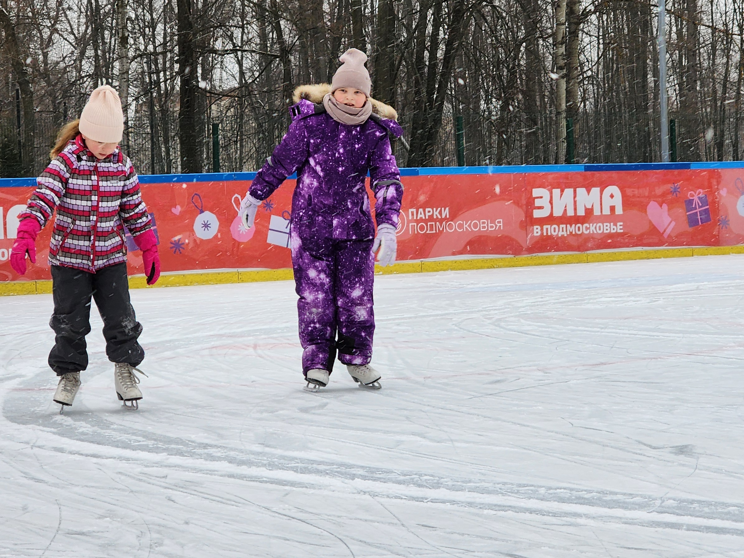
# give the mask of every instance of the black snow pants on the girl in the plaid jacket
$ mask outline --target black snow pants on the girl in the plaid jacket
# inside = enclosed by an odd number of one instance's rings
[[[95,273],[71,267],[51,266],[54,314],[49,326],[54,330],[54,347],[49,366],[62,376],[88,368],[86,335],[90,333],[91,298],[103,320],[106,356],[111,362],[137,366],[144,350],[137,342],[142,326],[129,301],[126,263],[104,267]]]

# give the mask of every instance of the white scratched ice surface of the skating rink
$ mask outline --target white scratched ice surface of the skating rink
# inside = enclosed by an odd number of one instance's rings
[[[1,557],[744,557],[744,256],[376,279],[381,391],[302,390],[292,282],[93,310],[52,403],[51,296],[0,298]]]

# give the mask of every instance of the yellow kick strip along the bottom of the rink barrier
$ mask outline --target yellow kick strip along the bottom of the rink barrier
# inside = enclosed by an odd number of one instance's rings
[[[554,266],[561,263],[618,262],[653,260],[661,257],[716,256],[744,254],[744,246],[709,246],[699,248],[643,248],[624,251],[577,252],[575,254],[537,254],[534,256],[484,257],[469,260],[417,260],[399,262],[390,267],[375,266],[376,275],[397,273],[430,273],[496,269],[502,267]],[[158,283],[147,286],[143,275],[129,278],[130,289],[153,289],[161,286],[222,285],[292,279],[292,269],[235,269],[225,272],[189,272],[161,275]],[[0,282],[0,296],[42,295],[51,293],[51,280]]]

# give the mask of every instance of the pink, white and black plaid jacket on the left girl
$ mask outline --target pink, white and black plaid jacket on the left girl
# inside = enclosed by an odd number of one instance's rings
[[[36,179],[19,219],[54,219],[49,265],[96,272],[126,261],[124,225],[133,237],[151,227],[132,162],[117,150],[98,160],[83,138],[71,140]]]

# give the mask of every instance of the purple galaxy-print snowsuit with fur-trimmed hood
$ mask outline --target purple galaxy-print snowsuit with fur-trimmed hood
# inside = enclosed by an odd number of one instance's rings
[[[397,227],[403,185],[390,137],[403,129],[377,115],[356,126],[339,124],[309,100],[290,111],[289,131],[248,192],[266,199],[297,171],[289,236],[303,373],[332,371],[336,350],[344,364],[365,365],[374,333],[375,234],[365,179],[369,172],[377,224]]]

